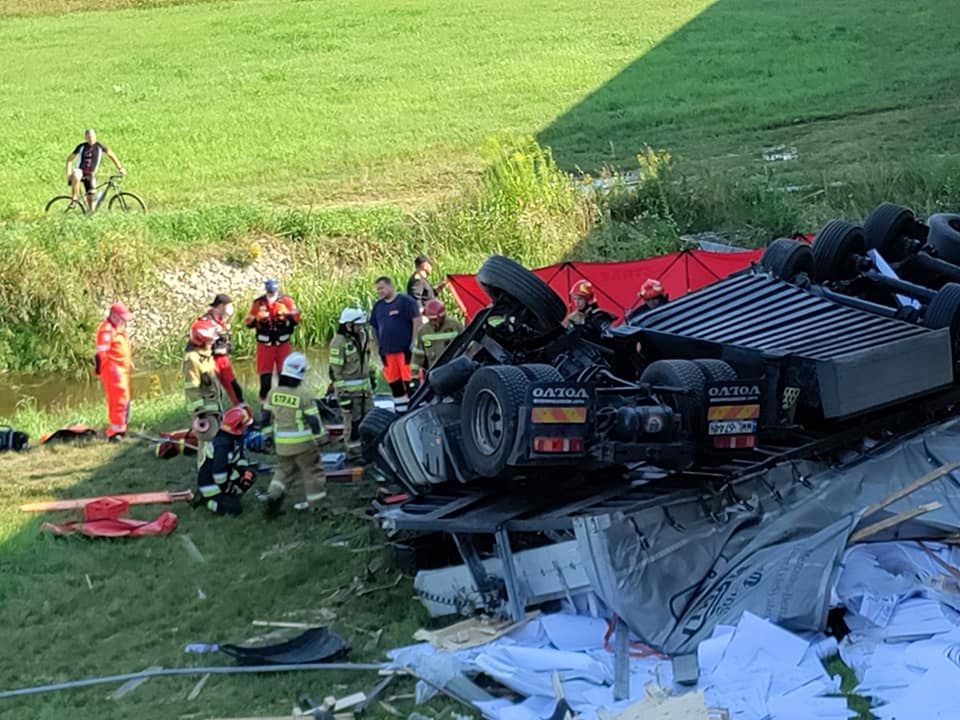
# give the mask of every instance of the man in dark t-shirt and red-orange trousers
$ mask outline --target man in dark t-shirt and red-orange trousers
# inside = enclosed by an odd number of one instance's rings
[[[370,327],[383,362],[383,379],[390,386],[397,412],[404,412],[407,409],[407,385],[413,377],[410,356],[414,334],[421,324],[420,306],[409,295],[397,293],[388,277],[377,278],[376,289],[380,299],[370,312]]]

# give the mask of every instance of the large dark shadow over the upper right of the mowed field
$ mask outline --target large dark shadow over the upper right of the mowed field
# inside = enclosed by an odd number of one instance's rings
[[[808,170],[949,152],[958,22],[941,0],[719,0],[538,140],[584,170],[630,164],[646,144],[742,167],[796,142],[784,151]]]

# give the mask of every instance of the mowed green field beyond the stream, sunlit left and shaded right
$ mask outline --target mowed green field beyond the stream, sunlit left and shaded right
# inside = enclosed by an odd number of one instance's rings
[[[428,202],[513,133],[584,170],[645,143],[739,174],[795,146],[785,182],[956,160],[942,0],[141,5],[0,26],[0,217],[64,188],[87,126],[154,207]]]

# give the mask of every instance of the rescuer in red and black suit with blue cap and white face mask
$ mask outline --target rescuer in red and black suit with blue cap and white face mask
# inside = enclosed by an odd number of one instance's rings
[[[269,279],[266,291],[253,301],[243,324],[257,332],[257,374],[260,376],[260,407],[273,384],[273,373],[280,372],[290,354],[290,336],[300,322],[300,311],[288,295],[280,294],[280,282]]]

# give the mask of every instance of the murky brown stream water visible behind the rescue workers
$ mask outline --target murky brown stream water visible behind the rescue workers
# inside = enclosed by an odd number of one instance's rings
[[[309,350],[307,357],[311,364],[310,375],[326,377],[326,349]],[[253,358],[235,361],[234,370],[244,388],[256,392],[257,376]],[[134,401],[138,396],[155,391],[158,383],[162,393],[180,392],[183,387],[179,365],[138,369],[134,371],[132,380],[131,395]],[[68,409],[91,402],[103,402],[103,389],[93,373],[79,378],[68,373],[0,374],[0,417],[12,417],[17,406],[26,402],[36,403],[38,410]]]

